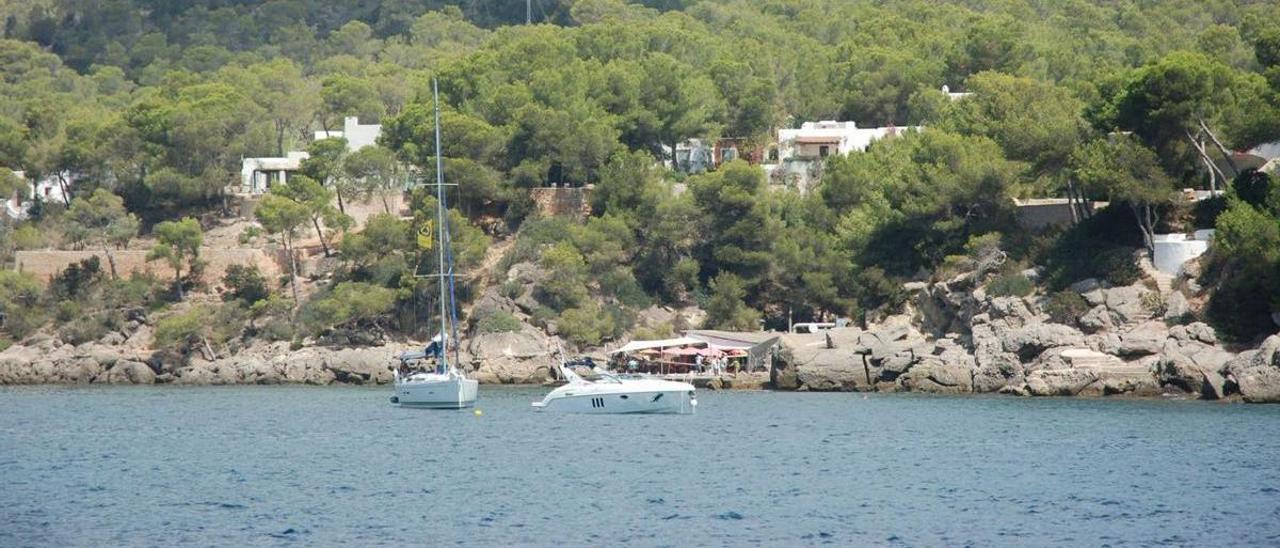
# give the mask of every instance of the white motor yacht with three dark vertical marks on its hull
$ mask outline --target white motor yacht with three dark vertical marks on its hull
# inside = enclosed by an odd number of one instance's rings
[[[538,410],[584,414],[667,414],[691,415],[698,408],[694,385],[652,378],[617,376],[593,370],[593,379],[584,379],[566,364],[558,364],[568,384],[556,388],[540,402]]]

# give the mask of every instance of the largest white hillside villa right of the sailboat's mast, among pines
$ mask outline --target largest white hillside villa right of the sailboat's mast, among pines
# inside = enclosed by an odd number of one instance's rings
[[[796,129],[778,129],[776,160],[771,157],[773,163],[763,168],[774,183],[808,189],[822,177],[822,163],[827,156],[861,152],[876,141],[919,128],[859,128],[854,122],[805,122]]]

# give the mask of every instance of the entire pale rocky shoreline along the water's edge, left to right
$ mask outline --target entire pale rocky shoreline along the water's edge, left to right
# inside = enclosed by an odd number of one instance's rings
[[[1089,310],[1051,320],[1047,297],[992,297],[960,277],[914,284],[908,314],[868,329],[783,334],[768,376],[700,379],[700,388],[1005,393],[1018,396],[1176,394],[1280,402],[1280,334],[1240,350],[1203,323],[1179,324],[1176,291],[1162,306],[1142,283],[1085,280],[1073,291]],[[1161,310],[1162,309],[1162,310]],[[147,348],[143,324],[73,346],[33,337],[0,352],[0,385],[14,384],[384,384],[410,343],[352,348],[259,343],[234,355],[174,360]],[[543,384],[558,341],[522,324],[471,337],[463,369],[483,384]]]

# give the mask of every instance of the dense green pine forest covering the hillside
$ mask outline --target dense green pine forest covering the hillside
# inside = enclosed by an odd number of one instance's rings
[[[246,238],[316,232],[339,266],[303,294],[297,277],[252,269],[204,280],[229,288],[224,302],[175,309],[157,343],[420,335],[431,291],[412,274],[434,266],[413,234],[434,198],[411,192],[412,220],[364,225],[342,205],[434,177],[433,79],[460,268],[539,265],[550,275],[531,294],[500,291],[580,346],[623,337],[652,305],[696,305],[723,329],[874,318],[902,305],[904,283],[993,252],[1007,259],[992,292],[1132,283],[1153,233],[1197,228],[1217,229],[1204,319],[1249,341],[1280,312],[1280,182],[1233,163],[1280,141],[1272,1],[0,0],[0,193],[26,188],[9,177],[22,170],[67,178],[70,195],[5,219],[0,261],[145,237],[184,280],[97,262],[47,288],[0,273],[4,346],[46,325],[92,339],[131,307],[189,298],[202,223],[228,214],[241,159],[291,150],[311,152],[305,175],[273,188]],[[380,122],[379,146],[312,141],[346,117]],[[768,150],[808,120],[923,129],[828,159],[810,192],[741,160],[663,164],[689,138]],[[538,215],[529,195],[588,184],[582,223]],[[1183,188],[1226,192],[1190,205]],[[1014,198],[1029,197],[1080,215],[1023,229]],[[497,310],[471,324],[516,329]]]

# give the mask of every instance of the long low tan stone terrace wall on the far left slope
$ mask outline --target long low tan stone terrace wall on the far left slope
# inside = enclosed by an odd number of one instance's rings
[[[68,265],[79,262],[91,256],[97,256],[99,261],[102,262],[102,270],[105,271],[108,266],[106,256],[101,250],[83,250],[83,251],[60,251],[60,250],[46,250],[46,251],[18,251],[14,257],[15,268],[20,271],[35,274],[42,282],[49,282],[58,273],[63,271]],[[127,277],[129,273],[146,273],[150,271],[159,278],[172,279],[173,269],[169,268],[164,261],[147,262],[147,251],[145,250],[119,250],[113,252],[115,257],[115,270]],[[227,273],[227,268],[230,265],[257,265],[259,270],[262,271],[268,279],[273,279],[284,273],[282,269],[283,254],[276,257],[274,250],[262,248],[210,248],[202,247],[200,250],[200,257],[205,261],[205,282],[215,283],[223,278]],[[278,260],[279,259],[279,260]]]

